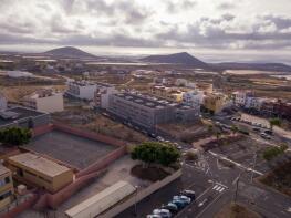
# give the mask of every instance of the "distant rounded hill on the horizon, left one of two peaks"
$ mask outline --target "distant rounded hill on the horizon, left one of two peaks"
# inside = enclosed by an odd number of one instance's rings
[[[72,59],[96,59],[95,55],[82,51],[74,46],[62,46],[44,52],[52,56],[72,58]]]

